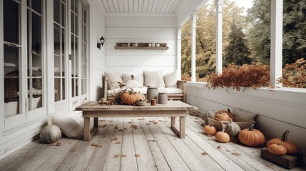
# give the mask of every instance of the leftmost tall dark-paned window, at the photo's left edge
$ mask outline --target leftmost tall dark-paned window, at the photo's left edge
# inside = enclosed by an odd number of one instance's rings
[[[21,2],[4,3],[4,115],[5,118],[21,113]]]

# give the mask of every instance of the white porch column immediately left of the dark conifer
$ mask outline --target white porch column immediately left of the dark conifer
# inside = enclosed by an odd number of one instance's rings
[[[215,56],[215,71],[222,73],[222,16],[223,16],[223,0],[215,0],[215,11],[217,18],[217,33],[216,33],[216,56]]]

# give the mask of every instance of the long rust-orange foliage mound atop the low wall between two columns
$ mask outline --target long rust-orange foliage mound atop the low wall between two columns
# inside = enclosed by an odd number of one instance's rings
[[[223,68],[222,75],[211,73],[208,76],[208,88],[229,88],[240,90],[241,87],[257,89],[269,85],[270,67],[262,63],[255,65],[235,66],[229,65]]]

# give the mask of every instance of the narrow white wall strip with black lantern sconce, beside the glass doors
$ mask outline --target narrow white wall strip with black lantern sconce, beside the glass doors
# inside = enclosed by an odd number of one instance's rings
[[[103,4],[101,1],[89,1],[90,3],[90,73],[89,73],[89,100],[98,100],[102,97],[103,93],[103,83],[102,76],[105,71],[105,61],[106,61],[106,48],[101,46],[101,50],[97,48],[98,39],[103,36],[106,37],[105,31],[105,21],[106,16],[103,12]]]

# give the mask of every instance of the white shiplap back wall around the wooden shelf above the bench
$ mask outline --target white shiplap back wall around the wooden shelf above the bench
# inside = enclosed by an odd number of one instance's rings
[[[106,71],[142,73],[177,68],[175,16],[106,16]],[[116,50],[118,42],[167,43],[168,50]]]

